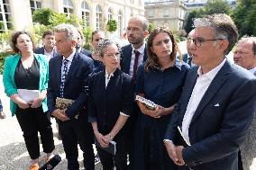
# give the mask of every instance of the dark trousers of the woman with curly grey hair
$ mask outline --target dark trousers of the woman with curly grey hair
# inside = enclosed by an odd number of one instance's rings
[[[116,142],[116,153],[114,156],[102,148],[96,147],[103,170],[114,170],[114,166],[116,167],[116,170],[127,170],[129,139],[121,137],[114,139],[114,141]]]

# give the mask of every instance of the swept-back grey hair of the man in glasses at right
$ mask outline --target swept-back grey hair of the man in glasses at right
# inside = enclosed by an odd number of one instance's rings
[[[227,49],[224,50],[224,54],[228,54],[233,49],[234,44],[238,39],[238,30],[231,19],[225,13],[215,13],[207,15],[203,18],[197,18],[194,21],[194,27],[210,27],[215,29],[215,39],[226,39],[229,41]]]

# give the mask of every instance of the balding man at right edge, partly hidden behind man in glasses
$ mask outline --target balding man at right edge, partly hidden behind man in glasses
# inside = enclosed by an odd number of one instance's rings
[[[256,76],[256,37],[243,37],[237,43],[237,48],[234,51],[233,61],[235,64],[249,70]],[[243,170],[250,170],[253,159],[256,158],[256,115],[251,123],[249,133],[242,144],[241,156],[242,161],[239,166]]]

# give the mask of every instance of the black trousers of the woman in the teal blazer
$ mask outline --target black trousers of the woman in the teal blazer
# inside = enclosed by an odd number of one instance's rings
[[[49,112],[43,112],[41,107],[28,109],[17,107],[15,115],[23,130],[26,148],[32,159],[40,157],[38,131],[41,135],[43,152],[50,153],[54,150]]]

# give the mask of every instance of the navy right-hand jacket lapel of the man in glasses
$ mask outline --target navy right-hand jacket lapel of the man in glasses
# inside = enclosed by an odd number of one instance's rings
[[[204,94],[201,102],[198,104],[197,110],[192,118],[191,124],[193,123],[193,121],[195,121],[197,119],[197,117],[200,115],[200,113],[206,107],[207,103],[209,103],[212,100],[212,98],[218,92],[219,88],[224,84],[224,82],[227,79],[228,74],[230,72],[230,67],[231,66],[230,66],[229,62],[226,61],[224,63],[224,66],[217,73],[214,80],[209,85],[208,89],[206,90],[206,94]]]

